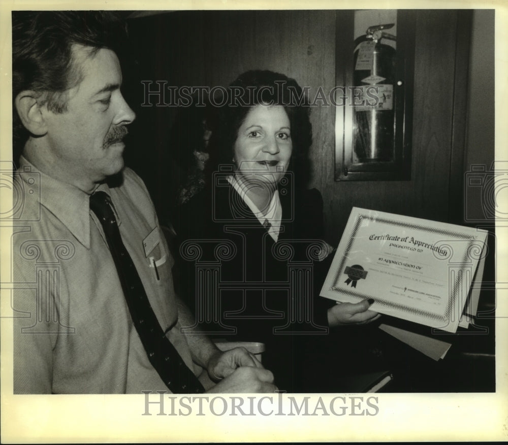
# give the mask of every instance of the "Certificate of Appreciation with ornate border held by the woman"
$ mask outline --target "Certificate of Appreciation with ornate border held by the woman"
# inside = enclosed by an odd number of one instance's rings
[[[478,307],[487,231],[353,208],[321,296],[448,332]]]

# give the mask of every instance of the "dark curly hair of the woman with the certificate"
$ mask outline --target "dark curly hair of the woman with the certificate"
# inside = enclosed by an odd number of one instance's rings
[[[312,144],[312,126],[308,99],[298,83],[273,71],[254,70],[241,74],[226,92],[224,100],[215,100],[225,105],[218,109],[218,123],[208,146],[208,178],[219,167],[234,167],[233,149],[238,130],[252,107],[280,105],[291,123],[293,153],[288,170],[293,172],[298,184],[304,185],[310,170],[308,152]]]

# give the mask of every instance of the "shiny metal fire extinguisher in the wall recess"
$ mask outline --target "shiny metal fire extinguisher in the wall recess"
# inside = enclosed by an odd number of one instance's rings
[[[382,43],[396,40],[384,32],[393,26],[370,26],[355,40],[353,79],[362,100],[354,104],[354,150],[360,162],[390,161],[394,156],[396,50]]]

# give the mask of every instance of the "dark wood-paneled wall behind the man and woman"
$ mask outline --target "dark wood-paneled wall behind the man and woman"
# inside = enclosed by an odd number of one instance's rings
[[[335,11],[216,11],[133,19],[137,71],[128,78],[134,85],[131,102],[136,107],[143,101],[140,80],[227,86],[251,69],[277,71],[314,91],[319,86],[330,91],[335,86],[335,16]],[[448,221],[450,200],[462,199],[450,197],[451,172],[463,168],[452,162],[452,136],[454,131],[460,133],[461,125],[464,129],[463,119],[454,119],[454,97],[466,94],[465,81],[456,84],[457,60],[464,59],[467,70],[467,53],[456,58],[457,25],[457,11],[417,14],[410,181],[335,182],[335,110],[312,109],[310,186],[323,195],[332,244],[338,243],[353,206]],[[144,151],[131,153],[128,163],[145,179],[161,209],[169,204],[165,187],[171,166],[165,152],[171,149],[167,132],[175,109],[138,107],[136,111],[133,138]]]

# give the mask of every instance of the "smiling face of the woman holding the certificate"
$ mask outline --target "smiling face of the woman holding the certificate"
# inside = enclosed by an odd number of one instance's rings
[[[233,152],[237,177],[277,183],[293,152],[291,124],[284,107],[253,107],[238,129]]]

